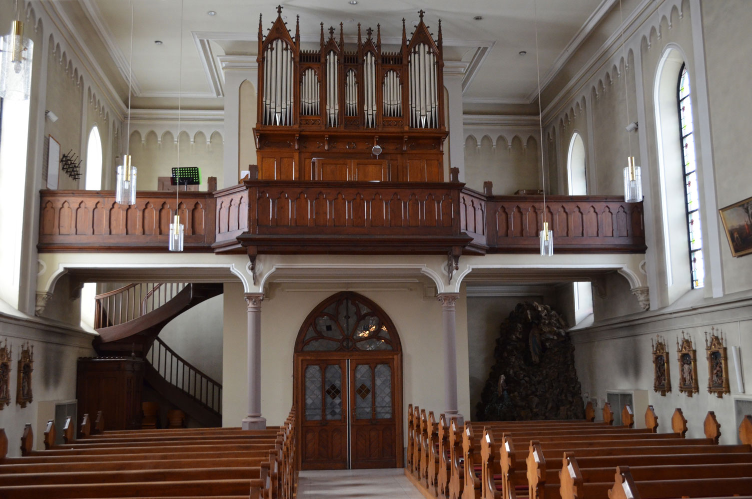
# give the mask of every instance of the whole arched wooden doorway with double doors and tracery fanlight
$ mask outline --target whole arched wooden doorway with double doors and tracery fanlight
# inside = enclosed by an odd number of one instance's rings
[[[294,376],[302,469],[402,467],[402,347],[381,307],[353,292],[318,304]]]

